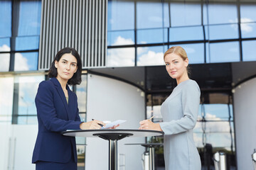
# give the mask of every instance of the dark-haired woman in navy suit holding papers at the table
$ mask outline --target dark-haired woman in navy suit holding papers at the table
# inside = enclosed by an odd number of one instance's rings
[[[80,121],[78,98],[68,84],[80,84],[82,62],[78,52],[70,47],[60,50],[50,66],[48,81],[39,84],[36,94],[38,136],[33,151],[36,170],[75,170],[77,153],[75,137],[60,134],[65,130],[100,129],[100,120]]]

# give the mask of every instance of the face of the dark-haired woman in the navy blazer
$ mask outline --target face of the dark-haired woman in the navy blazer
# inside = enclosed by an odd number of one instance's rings
[[[72,54],[66,53],[58,62],[55,61],[55,67],[58,72],[57,79],[68,81],[78,70],[78,61]]]

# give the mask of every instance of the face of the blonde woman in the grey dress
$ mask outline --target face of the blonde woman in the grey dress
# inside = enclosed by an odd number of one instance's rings
[[[188,66],[188,58],[183,60],[181,56],[174,53],[166,55],[164,58],[166,64],[166,71],[173,79],[181,79],[184,75],[187,75],[186,67]]]

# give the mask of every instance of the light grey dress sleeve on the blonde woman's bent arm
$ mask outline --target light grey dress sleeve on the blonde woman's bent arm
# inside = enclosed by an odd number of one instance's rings
[[[165,135],[173,135],[192,130],[196,125],[200,103],[200,89],[196,83],[184,86],[181,92],[183,117],[179,120],[159,123]]]

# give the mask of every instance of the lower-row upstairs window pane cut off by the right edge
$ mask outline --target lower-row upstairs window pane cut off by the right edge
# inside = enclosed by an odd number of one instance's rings
[[[256,61],[256,40],[242,41],[242,60]]]

